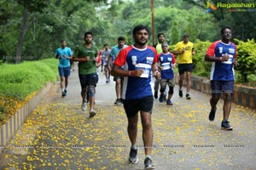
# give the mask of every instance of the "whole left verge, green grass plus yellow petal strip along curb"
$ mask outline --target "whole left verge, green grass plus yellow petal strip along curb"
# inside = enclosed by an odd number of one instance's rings
[[[57,59],[29,61],[20,65],[0,65],[0,125],[44,87],[55,82]]]

